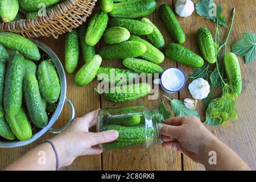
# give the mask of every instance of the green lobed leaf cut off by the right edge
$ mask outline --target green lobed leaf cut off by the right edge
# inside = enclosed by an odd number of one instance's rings
[[[232,46],[232,52],[238,56],[245,57],[245,63],[249,64],[255,61],[256,57],[256,34],[243,33],[243,39],[238,40]]]

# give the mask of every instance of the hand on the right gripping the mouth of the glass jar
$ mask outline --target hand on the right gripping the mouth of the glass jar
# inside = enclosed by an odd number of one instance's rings
[[[158,125],[164,148],[180,151],[197,163],[203,163],[205,146],[218,140],[193,116],[173,117]]]

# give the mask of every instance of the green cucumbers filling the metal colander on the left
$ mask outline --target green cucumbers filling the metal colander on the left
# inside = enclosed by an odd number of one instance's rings
[[[12,32],[0,32],[0,136],[28,140],[32,124],[43,128],[55,110],[60,81],[51,60]]]

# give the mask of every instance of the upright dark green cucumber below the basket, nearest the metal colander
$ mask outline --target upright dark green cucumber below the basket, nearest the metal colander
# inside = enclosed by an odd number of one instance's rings
[[[79,36],[76,29],[68,32],[65,38],[65,67],[73,73],[79,63]]]

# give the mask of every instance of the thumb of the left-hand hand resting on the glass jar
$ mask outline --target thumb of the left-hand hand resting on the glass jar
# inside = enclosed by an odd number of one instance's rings
[[[101,143],[108,143],[113,142],[115,139],[118,138],[118,131],[115,130],[108,130],[108,131],[102,131],[98,133],[91,133],[93,140],[91,140],[90,144],[91,146],[95,146],[97,144]]]

